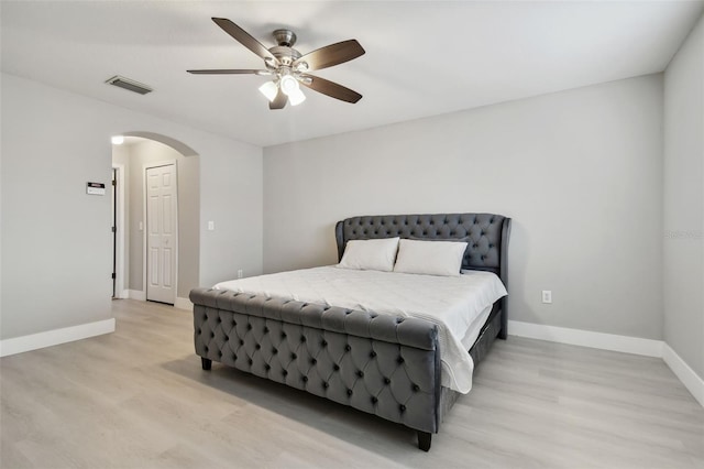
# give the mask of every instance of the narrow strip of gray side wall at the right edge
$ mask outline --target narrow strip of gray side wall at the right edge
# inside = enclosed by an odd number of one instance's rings
[[[704,19],[664,75],[664,339],[704,379]]]

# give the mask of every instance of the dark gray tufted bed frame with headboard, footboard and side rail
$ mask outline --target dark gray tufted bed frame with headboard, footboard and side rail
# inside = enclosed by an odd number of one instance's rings
[[[353,217],[336,226],[338,257],[353,239],[399,236],[463,239],[462,269],[496,273],[507,284],[510,218],[493,214]],[[418,318],[196,288],[196,353],[417,430],[430,449],[459,393],[440,384],[437,326]],[[507,334],[506,298],[497,301],[469,350],[475,363]]]

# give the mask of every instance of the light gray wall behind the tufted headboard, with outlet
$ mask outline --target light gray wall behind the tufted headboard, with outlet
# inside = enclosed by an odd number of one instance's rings
[[[337,262],[339,219],[446,211],[514,218],[512,319],[662,339],[662,76],[264,150],[266,272]]]

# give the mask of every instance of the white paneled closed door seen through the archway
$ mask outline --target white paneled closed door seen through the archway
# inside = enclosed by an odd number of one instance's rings
[[[176,165],[146,168],[146,299],[176,302]]]

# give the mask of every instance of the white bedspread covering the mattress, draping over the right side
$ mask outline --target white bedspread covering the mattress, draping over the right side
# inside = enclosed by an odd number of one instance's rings
[[[215,288],[430,320],[439,330],[442,385],[461,393],[472,389],[474,369],[462,342],[474,342],[492,304],[506,295],[491,272],[436,276],[337,266],[233,280]]]

